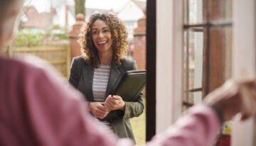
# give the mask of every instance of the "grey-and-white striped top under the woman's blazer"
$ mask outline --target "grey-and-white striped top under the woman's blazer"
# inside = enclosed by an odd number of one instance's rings
[[[92,93],[95,101],[105,101],[105,93],[109,77],[110,65],[101,64],[98,69],[94,69]]]

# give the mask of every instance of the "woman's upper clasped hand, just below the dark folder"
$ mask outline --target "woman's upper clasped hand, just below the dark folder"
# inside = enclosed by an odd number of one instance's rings
[[[107,108],[108,111],[113,111],[118,109],[124,111],[125,102],[122,100],[121,96],[110,95],[110,96],[107,96],[107,99],[105,101],[105,108]]]

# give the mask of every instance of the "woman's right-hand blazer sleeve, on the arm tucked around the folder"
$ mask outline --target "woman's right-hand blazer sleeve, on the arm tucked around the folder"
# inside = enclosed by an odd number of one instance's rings
[[[132,62],[132,70],[137,70],[137,63]],[[125,102],[125,111],[123,118],[133,118],[140,116],[144,110],[143,104],[143,94],[139,94],[137,101],[124,101]]]

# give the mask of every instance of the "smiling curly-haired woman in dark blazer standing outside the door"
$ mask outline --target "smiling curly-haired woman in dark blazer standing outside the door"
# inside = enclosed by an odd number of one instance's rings
[[[142,94],[137,101],[123,101],[110,95],[125,72],[137,69],[134,60],[124,58],[128,48],[127,29],[122,20],[111,13],[95,13],[87,19],[78,40],[82,56],[73,58],[70,84],[85,95],[89,111],[103,119],[119,137],[134,140],[129,118],[144,110]],[[118,110],[114,118],[104,120],[110,111]],[[135,140],[134,140],[135,142]]]

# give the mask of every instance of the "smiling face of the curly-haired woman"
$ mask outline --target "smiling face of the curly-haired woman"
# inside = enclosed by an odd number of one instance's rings
[[[111,52],[112,53],[112,38],[110,26],[104,21],[97,19],[92,24],[92,41],[99,53]]]

